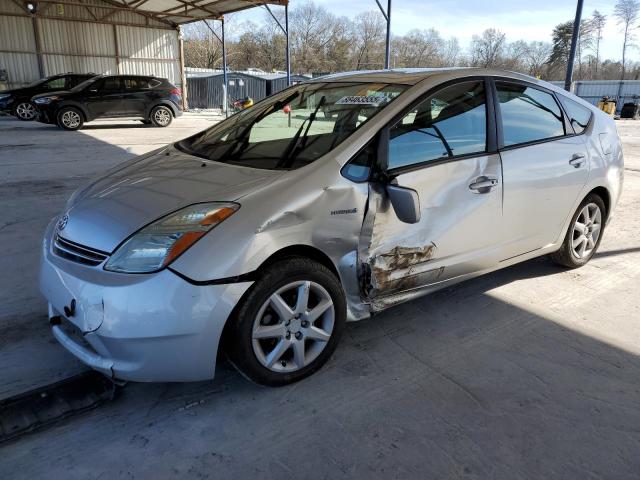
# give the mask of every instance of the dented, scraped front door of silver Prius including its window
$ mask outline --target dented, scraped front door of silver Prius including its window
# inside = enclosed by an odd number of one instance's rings
[[[502,169],[487,153],[484,92],[482,81],[447,87],[390,128],[388,173],[418,192],[421,218],[401,222],[384,185],[370,185],[359,251],[370,299],[419,293],[498,262]]]

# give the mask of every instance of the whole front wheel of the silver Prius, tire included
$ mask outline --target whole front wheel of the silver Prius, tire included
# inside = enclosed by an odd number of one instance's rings
[[[298,306],[305,291],[306,305],[303,300]],[[229,319],[227,355],[256,383],[297,382],[336,349],[346,311],[342,287],[328,268],[302,257],[279,260],[259,276]]]

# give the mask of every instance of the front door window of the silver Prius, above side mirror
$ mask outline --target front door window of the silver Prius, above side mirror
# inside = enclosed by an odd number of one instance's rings
[[[484,82],[457,83],[429,96],[391,128],[388,168],[486,149]]]

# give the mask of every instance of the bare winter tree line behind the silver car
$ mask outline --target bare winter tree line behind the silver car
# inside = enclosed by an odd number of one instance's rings
[[[274,12],[275,14],[275,12]],[[282,14],[279,16],[284,24]],[[636,49],[640,1],[618,0],[609,16],[595,10],[581,23],[574,65],[575,80],[640,79],[640,62],[630,61]],[[623,34],[619,59],[604,59],[604,28],[615,22]],[[221,68],[219,22],[184,27],[185,64]],[[296,2],[289,13],[291,68],[295,73],[329,73],[382,68],[386,23],[378,11],[353,19],[337,16],[312,0]],[[285,68],[285,37],[265,13],[265,22],[234,24],[227,20],[227,64],[232,70]],[[479,66],[504,68],[546,80],[562,80],[573,35],[573,20],[558,24],[552,41],[508,41],[499,29],[474,35],[466,48],[457,38],[444,38],[434,28],[412,30],[391,39],[392,67]]]

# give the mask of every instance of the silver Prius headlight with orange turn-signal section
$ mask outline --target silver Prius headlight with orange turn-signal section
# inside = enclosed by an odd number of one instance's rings
[[[158,271],[238,208],[237,203],[199,203],[162,217],[120,245],[104,268],[124,273]]]

